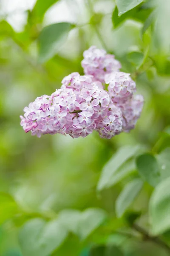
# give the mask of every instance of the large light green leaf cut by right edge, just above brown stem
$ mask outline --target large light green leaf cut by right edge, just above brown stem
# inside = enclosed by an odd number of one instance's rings
[[[150,223],[153,235],[170,229],[170,177],[156,186],[149,203]]]

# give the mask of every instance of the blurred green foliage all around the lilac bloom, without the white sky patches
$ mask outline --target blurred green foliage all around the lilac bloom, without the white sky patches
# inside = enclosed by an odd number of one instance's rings
[[[62,1],[37,0],[22,32],[1,15],[0,256],[170,255],[170,1],[68,0],[77,22],[46,26]],[[144,95],[135,130],[25,134],[23,108],[82,74],[91,45]]]

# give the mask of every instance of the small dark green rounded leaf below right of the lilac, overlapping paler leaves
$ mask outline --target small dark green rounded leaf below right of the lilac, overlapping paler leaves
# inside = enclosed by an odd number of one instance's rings
[[[136,165],[141,177],[143,177],[151,186],[156,186],[159,183],[159,164],[153,155],[140,155],[136,159]]]

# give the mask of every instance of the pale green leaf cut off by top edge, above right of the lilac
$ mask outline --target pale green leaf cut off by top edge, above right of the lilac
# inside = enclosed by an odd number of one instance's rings
[[[119,10],[118,15],[121,16],[122,14],[133,9],[142,2],[143,0],[116,0],[116,6]]]

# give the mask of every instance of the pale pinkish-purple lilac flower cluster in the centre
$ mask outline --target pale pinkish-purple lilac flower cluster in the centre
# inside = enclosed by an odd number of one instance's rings
[[[130,74],[119,72],[119,61],[104,50],[90,47],[82,61],[85,75],[74,72],[62,80],[51,96],[38,97],[24,108],[21,125],[25,132],[69,134],[86,137],[93,130],[111,139],[134,128],[143,106],[143,97],[134,95],[136,84]],[[104,90],[104,82],[108,91]]]

